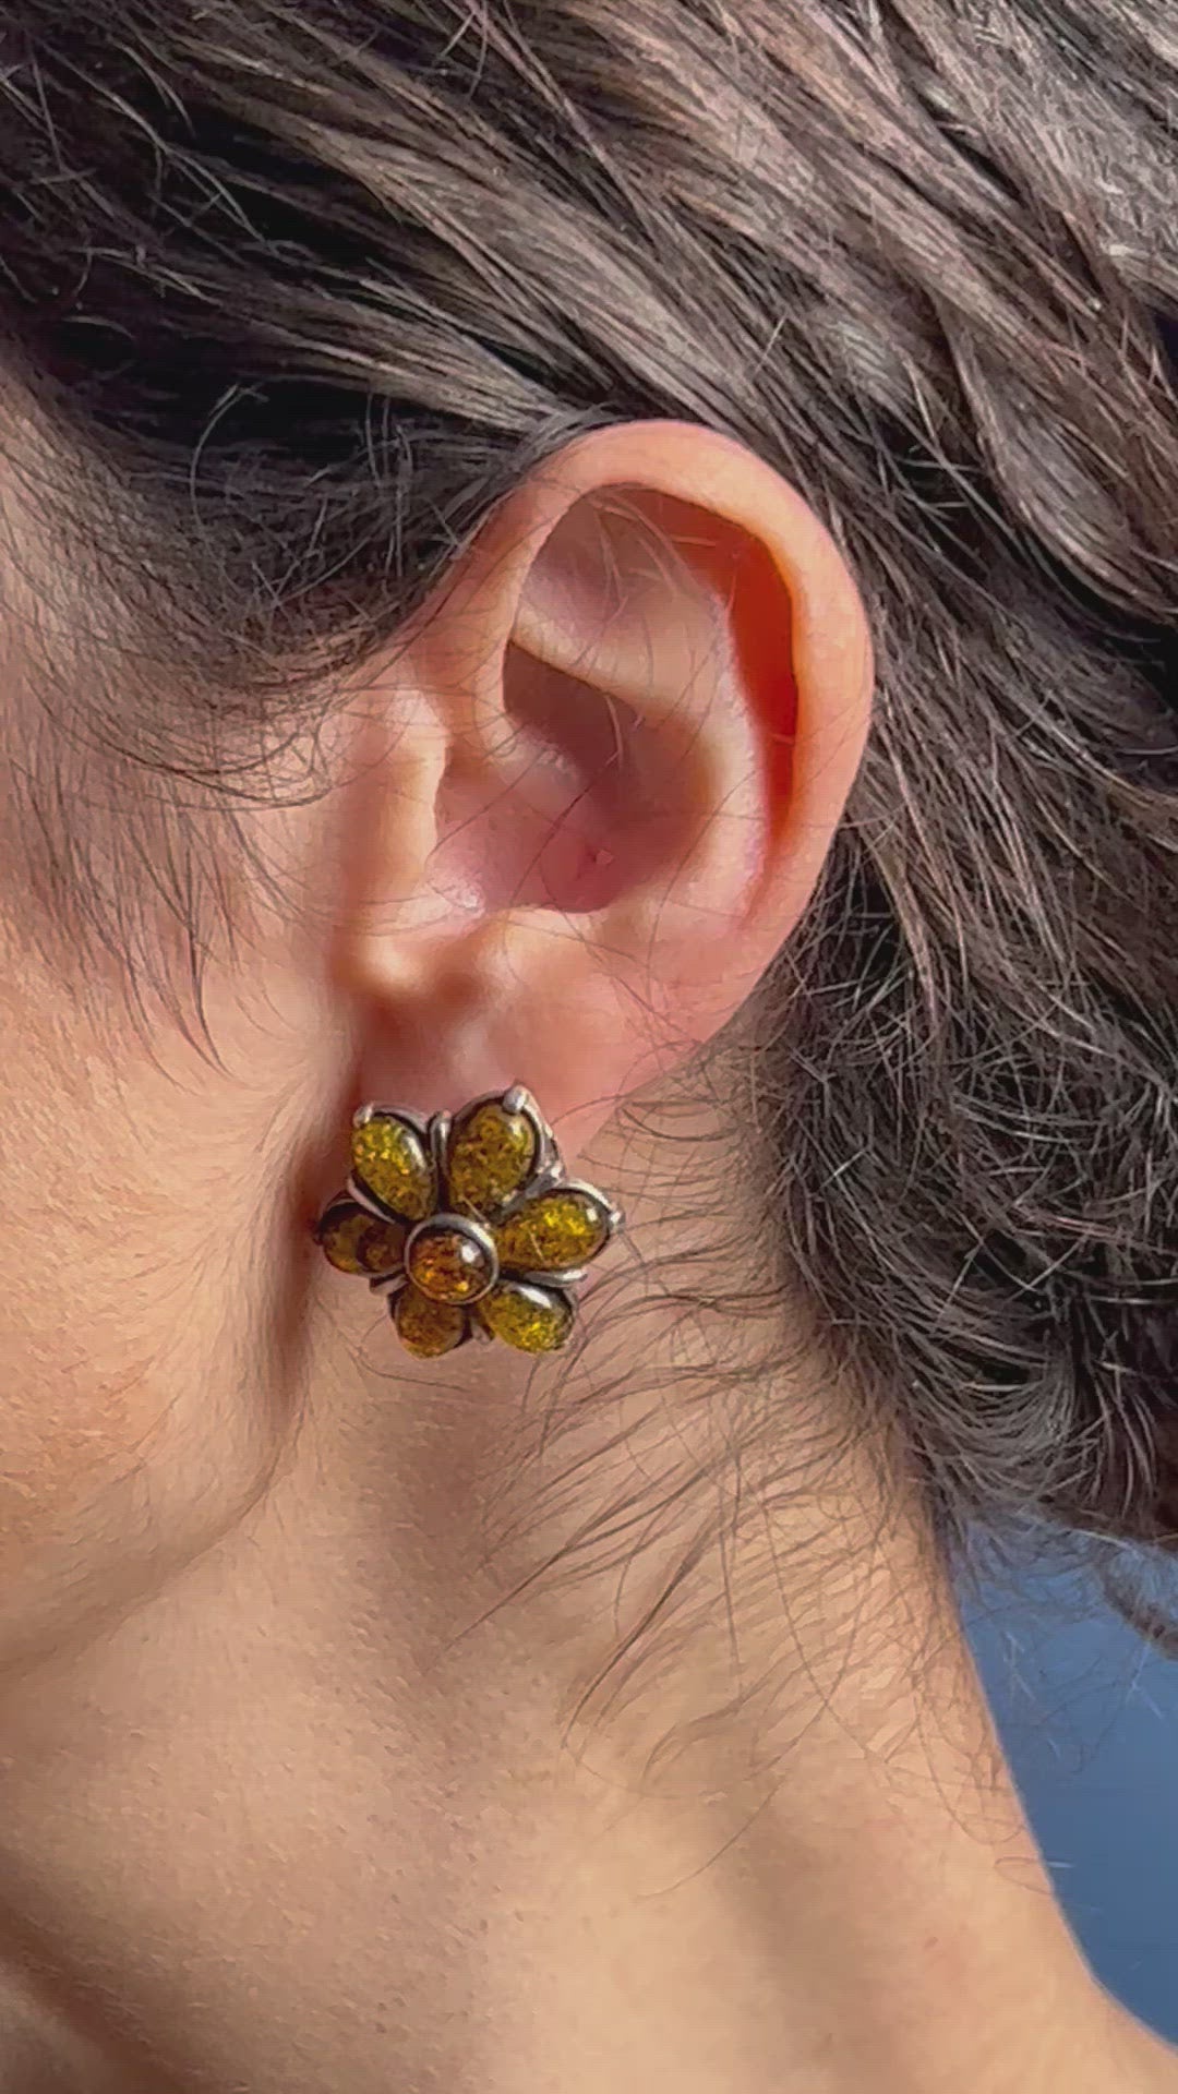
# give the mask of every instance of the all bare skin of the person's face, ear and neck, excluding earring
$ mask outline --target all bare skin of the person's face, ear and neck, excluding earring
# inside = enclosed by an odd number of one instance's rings
[[[679,1076],[805,909],[870,681],[776,473],[608,429],[337,695],[333,792],[252,817],[279,884],[235,873],[216,1055],[132,1030],[113,965],[82,993],[8,877],[6,2094],[1178,2088],[1067,1935],[920,1506],[797,1305],[667,1284],[755,1286]],[[358,1101],[511,1081],[627,1206],[616,1277],[570,1367],[413,1363],[310,1225]],[[786,1487],[738,1497],[748,1386]],[[727,1545],[585,1700],[708,1462]]]

